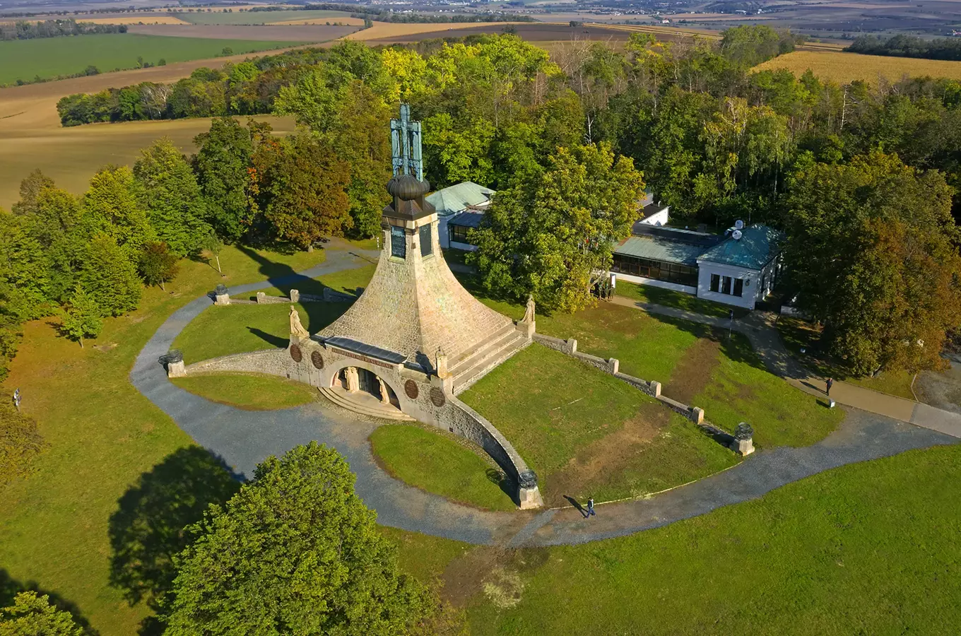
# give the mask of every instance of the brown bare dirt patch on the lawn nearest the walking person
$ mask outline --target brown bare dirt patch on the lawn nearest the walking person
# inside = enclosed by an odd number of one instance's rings
[[[621,428],[584,447],[567,466],[546,479],[545,503],[566,505],[564,495],[582,492],[585,485],[604,483],[618,474],[637,455],[638,448],[650,444],[668,425],[670,411],[659,404],[642,404]]]

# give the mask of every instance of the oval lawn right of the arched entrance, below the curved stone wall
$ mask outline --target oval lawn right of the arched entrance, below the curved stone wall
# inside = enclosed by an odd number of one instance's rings
[[[371,433],[370,445],[388,473],[412,486],[479,508],[517,509],[504,474],[445,430],[387,425]]]

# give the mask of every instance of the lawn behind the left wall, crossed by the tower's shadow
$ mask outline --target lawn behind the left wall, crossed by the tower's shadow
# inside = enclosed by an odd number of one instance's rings
[[[355,289],[370,281],[373,266],[343,270],[317,280],[294,283],[304,293],[320,294],[324,286],[337,290]],[[294,286],[294,285],[290,285]],[[264,290],[268,295],[286,295],[289,286]],[[245,295],[253,298],[255,294]],[[310,332],[330,325],[350,307],[348,303],[298,303],[301,321]],[[242,354],[284,347],[290,337],[290,305],[209,306],[181,331],[174,348],[184,353],[187,364],[219,355]],[[211,337],[211,334],[218,334]]]

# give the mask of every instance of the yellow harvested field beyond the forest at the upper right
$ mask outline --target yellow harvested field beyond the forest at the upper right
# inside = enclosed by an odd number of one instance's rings
[[[896,82],[905,75],[961,80],[961,61],[890,58],[842,51],[795,51],[758,64],[754,70],[778,68],[786,68],[795,75],[801,75],[810,68],[818,77],[838,83],[863,80],[875,84],[882,77]]]

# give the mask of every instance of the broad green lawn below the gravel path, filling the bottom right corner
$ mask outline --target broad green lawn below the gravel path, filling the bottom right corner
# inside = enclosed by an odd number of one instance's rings
[[[384,530],[472,636],[951,634],[961,446],[852,464],[620,539],[510,552]],[[604,506],[599,508],[601,521]],[[514,606],[496,587],[512,581]],[[503,587],[503,586],[502,586]]]

